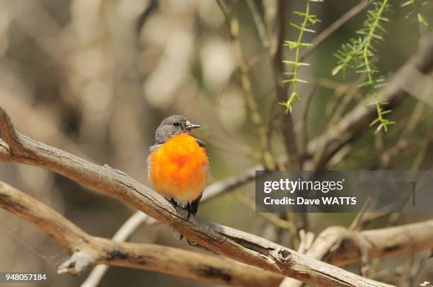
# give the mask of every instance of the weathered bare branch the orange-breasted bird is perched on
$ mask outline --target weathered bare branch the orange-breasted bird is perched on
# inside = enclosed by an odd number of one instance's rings
[[[0,124],[1,133],[6,134],[3,140],[9,145],[11,136],[7,134],[14,130],[4,129],[11,127],[11,123],[3,108],[0,108],[0,119],[3,119]],[[211,223],[198,216],[187,220],[187,211],[180,207],[175,208],[161,195],[127,175],[89,163],[18,132],[13,141],[15,144],[12,150],[1,145],[0,159],[52,170],[86,187],[126,201],[217,254],[320,286],[386,286],[311,259],[255,235]]]

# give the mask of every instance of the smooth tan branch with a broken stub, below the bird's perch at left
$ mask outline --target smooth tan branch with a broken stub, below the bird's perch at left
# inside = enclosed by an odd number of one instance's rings
[[[59,273],[81,274],[95,264],[159,271],[233,286],[276,286],[282,276],[224,257],[152,244],[115,242],[83,232],[50,207],[0,182],[0,206],[35,224],[71,254]]]

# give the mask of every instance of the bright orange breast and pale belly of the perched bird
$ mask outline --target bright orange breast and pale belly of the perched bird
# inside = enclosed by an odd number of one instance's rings
[[[149,164],[156,192],[182,206],[200,197],[209,176],[207,151],[188,134],[171,137],[151,153]]]

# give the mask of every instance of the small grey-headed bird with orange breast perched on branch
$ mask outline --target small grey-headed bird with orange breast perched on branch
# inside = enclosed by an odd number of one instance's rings
[[[156,143],[147,158],[149,180],[156,192],[174,206],[195,216],[209,177],[209,154],[204,142],[190,135],[198,124],[183,116],[163,119],[156,129]],[[180,236],[180,239],[182,236]]]

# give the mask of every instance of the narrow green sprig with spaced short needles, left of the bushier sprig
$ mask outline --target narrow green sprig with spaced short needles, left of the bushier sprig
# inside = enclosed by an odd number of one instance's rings
[[[302,80],[299,78],[299,67],[301,66],[309,66],[308,63],[302,63],[299,61],[301,57],[301,48],[303,47],[309,47],[311,44],[303,42],[304,33],[316,33],[315,30],[311,29],[311,26],[315,23],[320,22],[320,20],[317,18],[316,15],[313,15],[310,13],[310,4],[311,2],[323,2],[323,0],[306,0],[306,10],[305,12],[298,12],[294,11],[293,13],[296,16],[301,16],[303,18],[301,24],[295,24],[290,23],[290,25],[297,30],[299,30],[298,39],[296,42],[294,41],[285,41],[284,46],[289,47],[289,49],[295,51],[295,58],[294,61],[283,61],[284,64],[287,64],[289,66],[293,66],[293,71],[284,73],[284,75],[289,76],[290,78],[285,79],[284,83],[293,83],[293,89],[291,91],[291,94],[289,96],[289,99],[286,102],[279,102],[279,105],[283,105],[286,107],[286,110],[284,110],[284,114],[287,115],[287,113],[291,112],[291,107],[294,104],[294,102],[297,100],[298,102],[301,102],[301,97],[298,94],[298,83],[308,83],[308,81]]]

